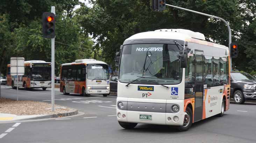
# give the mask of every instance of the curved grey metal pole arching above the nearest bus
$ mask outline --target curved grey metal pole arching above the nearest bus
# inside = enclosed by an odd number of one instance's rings
[[[224,20],[221,17],[217,17],[217,16],[214,16],[214,15],[209,15],[209,14],[206,14],[206,13],[197,12],[197,11],[186,9],[186,8],[182,8],[182,7],[177,7],[177,6],[168,5],[168,4],[166,4],[166,6],[170,6],[170,7],[174,7],[174,8],[178,8],[178,9],[182,9],[182,10],[186,10],[188,12],[192,12],[192,13],[196,13],[196,14],[201,14],[201,15],[205,15],[205,16],[208,16],[208,17],[213,17],[213,18],[216,18],[216,19],[219,19],[219,20],[223,21],[227,25],[227,27],[228,27],[228,48],[229,48],[229,52],[230,52],[230,44],[232,42],[232,37],[231,37],[231,29],[230,29],[229,24],[227,23],[226,20]],[[232,58],[230,58],[230,71],[232,71]]]

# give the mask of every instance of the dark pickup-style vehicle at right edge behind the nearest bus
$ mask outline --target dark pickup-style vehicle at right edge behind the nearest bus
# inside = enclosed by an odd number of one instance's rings
[[[231,72],[231,97],[236,104],[256,100],[256,79],[248,73]]]

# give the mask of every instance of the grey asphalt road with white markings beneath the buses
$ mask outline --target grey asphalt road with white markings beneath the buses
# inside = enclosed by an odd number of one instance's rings
[[[20,100],[51,99],[50,89],[19,90],[19,93]],[[256,142],[256,104],[231,104],[223,117],[214,116],[196,122],[185,132],[178,132],[173,127],[145,124],[127,130],[121,128],[116,120],[115,96],[64,96],[57,90],[55,93],[56,104],[76,108],[85,114],[65,120],[21,122],[18,126],[15,123],[0,123],[0,143]],[[16,99],[16,90],[2,86],[2,97]],[[6,131],[9,132],[6,134]]]

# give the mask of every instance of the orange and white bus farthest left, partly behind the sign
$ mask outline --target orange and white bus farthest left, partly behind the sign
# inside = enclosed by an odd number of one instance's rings
[[[51,87],[51,63],[33,60],[24,62],[25,72],[18,76],[18,86],[24,89],[42,88],[46,90]],[[7,65],[7,85],[16,88],[17,76],[10,75],[10,64]]]

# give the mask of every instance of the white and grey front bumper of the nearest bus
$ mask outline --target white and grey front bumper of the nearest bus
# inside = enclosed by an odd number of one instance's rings
[[[147,123],[157,125],[173,125],[180,126],[184,122],[184,107],[181,101],[167,101],[167,103],[144,103],[122,101],[123,108],[120,110],[117,101],[116,114],[120,122],[131,123]],[[179,111],[174,113],[171,111],[173,105],[179,106]],[[143,119],[148,117],[149,119]]]

